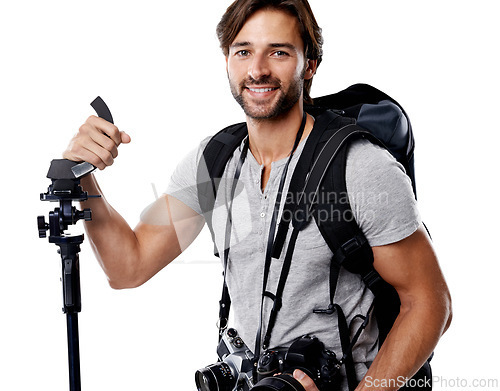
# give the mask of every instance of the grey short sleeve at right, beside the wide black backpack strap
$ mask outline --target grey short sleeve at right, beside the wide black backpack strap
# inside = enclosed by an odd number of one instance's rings
[[[348,150],[346,186],[354,218],[370,246],[398,242],[421,223],[410,178],[384,148],[368,140]]]

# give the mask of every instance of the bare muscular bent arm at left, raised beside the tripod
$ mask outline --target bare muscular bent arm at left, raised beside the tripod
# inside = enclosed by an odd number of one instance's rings
[[[93,176],[82,185],[102,194]],[[104,197],[86,201],[92,221],[85,223],[98,262],[115,289],[137,287],[174,260],[196,238],[204,219],[170,196],[160,197],[132,230]]]

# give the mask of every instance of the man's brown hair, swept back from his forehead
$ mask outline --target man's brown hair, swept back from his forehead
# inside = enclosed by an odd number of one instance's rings
[[[304,54],[307,59],[318,60],[319,66],[323,56],[323,36],[307,0],[236,0],[217,25],[217,37],[224,55],[229,55],[229,47],[250,16],[264,8],[285,11],[297,18],[304,41]],[[311,85],[312,78],[304,80],[304,102],[308,104],[312,104],[309,95]]]

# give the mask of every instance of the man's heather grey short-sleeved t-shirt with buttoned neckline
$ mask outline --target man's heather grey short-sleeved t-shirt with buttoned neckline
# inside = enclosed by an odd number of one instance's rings
[[[197,195],[197,169],[208,139],[190,153],[176,168],[166,193],[179,199],[197,213],[201,209]],[[287,172],[285,193],[303,150],[303,141],[295,152]],[[223,254],[227,207],[230,189],[243,143],[229,160],[219,186],[213,212],[215,242]],[[252,350],[259,326],[264,258],[270,221],[279,182],[287,159],[273,162],[269,181],[261,190],[263,166],[248,151],[232,205],[232,236],[227,270],[227,284],[232,300],[235,327]],[[207,176],[208,178],[208,176]],[[204,180],[208,180],[205,178]],[[202,179],[203,180],[203,179]],[[346,184],[354,217],[371,246],[397,242],[411,235],[420,224],[411,181],[403,167],[386,150],[369,141],[354,142],[348,151]],[[281,203],[283,208],[283,203]],[[281,213],[281,212],[280,212]],[[279,221],[279,217],[278,217]],[[288,238],[291,230],[289,230]],[[273,259],[267,290],[275,293],[288,238],[279,260]],[[329,275],[332,252],[313,222],[298,235],[290,273],[283,292],[283,305],[272,332],[270,347],[287,347],[297,338],[317,336],[329,349],[342,355],[337,317],[315,314],[313,309],[329,304]],[[373,301],[372,293],[358,275],[341,270],[335,302],[347,317],[348,324],[358,314],[366,315]],[[263,332],[268,324],[272,300],[264,300]],[[351,327],[354,334],[360,324]],[[353,358],[359,379],[364,376],[377,351],[378,329],[374,319],[361,334]]]

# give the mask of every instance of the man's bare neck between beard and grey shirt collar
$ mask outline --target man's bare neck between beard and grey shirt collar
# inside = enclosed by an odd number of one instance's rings
[[[297,104],[279,118],[255,120],[247,117],[250,151],[259,164],[269,167],[272,162],[290,155],[302,116],[302,104]],[[309,135],[313,124],[314,120],[307,116],[301,140]]]

